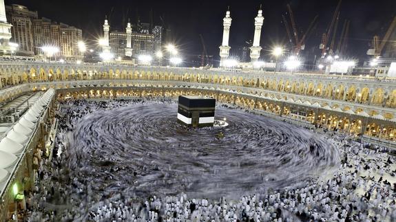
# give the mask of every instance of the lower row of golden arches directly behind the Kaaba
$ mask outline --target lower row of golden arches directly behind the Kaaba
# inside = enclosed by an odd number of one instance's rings
[[[156,88],[129,88],[129,89],[67,89],[58,93],[59,99],[81,98],[132,98],[132,97],[171,97],[180,95],[209,96],[216,98],[218,102],[235,104],[247,109],[255,109],[267,113],[282,115],[291,118],[317,124],[329,130],[343,131],[351,135],[367,135],[382,140],[396,141],[395,122],[364,118],[359,115],[348,115],[325,109],[311,109],[298,104],[286,104],[263,98],[255,98],[236,93],[226,93],[202,89],[156,89]]]

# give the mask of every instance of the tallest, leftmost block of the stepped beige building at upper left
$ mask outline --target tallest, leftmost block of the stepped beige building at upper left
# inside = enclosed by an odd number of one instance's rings
[[[28,56],[34,55],[33,23],[37,19],[37,12],[28,10],[23,5],[6,5],[8,21],[12,23],[11,41],[19,45],[18,52]]]

